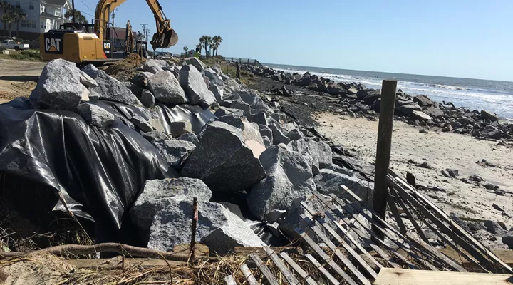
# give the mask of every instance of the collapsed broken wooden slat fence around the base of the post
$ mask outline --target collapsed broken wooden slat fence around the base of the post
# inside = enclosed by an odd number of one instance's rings
[[[372,196],[363,200],[343,185],[338,195],[315,194],[313,199],[322,205],[321,211],[301,202],[303,224],[295,230],[307,253],[291,258],[284,251],[275,252],[264,247],[264,259],[257,252],[249,254],[246,263],[239,268],[242,274],[238,275],[244,276],[244,284],[371,285],[384,268],[513,272],[504,261],[395,173],[389,172],[387,182],[390,191],[387,202],[392,216],[388,220],[367,207]],[[414,231],[408,232],[400,212],[406,214]],[[376,234],[373,227],[381,234]],[[425,227],[460,254],[460,260],[432,247],[423,234]],[[362,246],[362,241],[371,251]],[[464,268],[460,265],[463,259],[475,266]],[[227,276],[225,281],[226,284],[237,284],[233,276]]]

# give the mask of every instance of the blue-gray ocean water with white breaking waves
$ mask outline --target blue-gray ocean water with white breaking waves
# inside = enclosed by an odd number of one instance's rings
[[[415,74],[351,71],[336,68],[286,66],[264,63],[286,72],[305,73],[329,78],[335,82],[363,83],[368,88],[380,89],[383,79],[395,79],[398,88],[410,95],[427,95],[438,102],[452,102],[457,107],[470,110],[489,110],[502,119],[513,120],[513,82]]]

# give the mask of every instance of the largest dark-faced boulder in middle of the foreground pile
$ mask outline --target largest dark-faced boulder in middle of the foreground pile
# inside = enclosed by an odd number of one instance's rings
[[[198,136],[199,145],[182,169],[182,175],[203,180],[210,189],[239,192],[265,176],[264,167],[244,143],[242,130],[227,123],[209,123]]]

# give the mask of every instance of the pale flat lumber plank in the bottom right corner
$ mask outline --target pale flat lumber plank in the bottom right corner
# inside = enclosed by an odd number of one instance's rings
[[[513,277],[509,274],[384,268],[374,285],[507,285],[510,282]]]

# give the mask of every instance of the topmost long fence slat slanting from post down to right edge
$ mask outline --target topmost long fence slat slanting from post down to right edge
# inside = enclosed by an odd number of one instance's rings
[[[482,251],[484,254],[486,254],[487,257],[490,257],[497,264],[500,264],[502,267],[504,267],[504,269],[507,269],[507,271],[509,271],[509,273],[513,273],[513,269],[509,265],[505,264],[504,261],[499,259],[499,257],[497,257],[493,252],[491,252],[489,249],[484,247],[484,245],[482,243],[480,243],[479,241],[477,241],[477,239],[475,239],[475,237],[472,237],[472,234],[469,234],[467,231],[465,231],[465,229],[463,229],[460,226],[460,224],[457,224],[457,222],[454,222],[454,220],[452,220],[449,216],[447,216],[447,214],[445,214],[445,212],[443,212],[439,207],[437,207],[435,204],[433,204],[429,199],[427,199],[426,197],[421,195],[420,192],[413,189],[413,187],[408,185],[408,183],[406,183],[404,180],[400,179],[400,177],[397,177],[397,175],[395,177],[395,180],[398,180],[398,182],[400,184],[404,185],[405,187],[408,188],[408,190],[413,192],[417,199],[421,199],[428,207],[430,207],[430,209],[432,209],[432,211],[435,211],[436,214],[440,215],[440,217],[445,219],[445,222],[450,224],[452,229],[455,229],[458,232],[460,232],[460,234],[462,234],[466,239],[470,240],[470,242],[472,242],[472,244],[474,244],[474,246],[477,247],[477,249],[480,249],[480,251]]]

